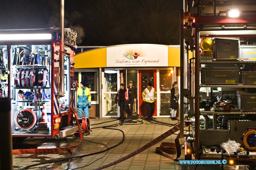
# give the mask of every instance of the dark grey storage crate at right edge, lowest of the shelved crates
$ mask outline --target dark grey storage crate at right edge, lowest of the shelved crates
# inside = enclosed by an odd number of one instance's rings
[[[236,95],[238,108],[242,111],[256,112],[256,93],[237,90]]]

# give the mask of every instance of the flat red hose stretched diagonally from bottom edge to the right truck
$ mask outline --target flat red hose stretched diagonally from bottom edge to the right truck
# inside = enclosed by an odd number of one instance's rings
[[[184,121],[184,127],[189,126],[189,124],[190,124],[189,121]],[[120,162],[122,162],[122,161],[124,161],[124,160],[126,160],[126,159],[129,159],[129,158],[131,158],[131,157],[137,155],[138,153],[140,153],[140,152],[142,152],[142,151],[148,149],[149,147],[151,147],[151,146],[157,144],[158,142],[162,141],[163,139],[165,139],[166,137],[172,135],[173,133],[177,132],[178,130],[180,130],[180,124],[174,126],[172,129],[170,129],[170,130],[168,130],[167,132],[163,133],[162,135],[160,135],[160,136],[157,137],[156,139],[152,140],[152,141],[149,142],[148,144],[145,144],[145,145],[142,146],[140,149],[138,149],[138,150],[136,150],[136,151],[130,153],[129,155],[127,155],[127,156],[125,156],[125,157],[123,157],[123,158],[121,158],[121,159],[118,159],[118,160],[116,160],[116,161],[114,161],[114,162],[111,162],[111,163],[109,163],[108,165],[104,165],[104,166],[101,166],[101,167],[99,167],[99,168],[96,168],[96,169],[94,169],[94,170],[104,169],[104,168],[107,168],[107,167],[109,167],[109,166],[118,164],[118,163],[120,163]],[[176,140],[176,139],[175,139],[175,140]],[[178,139],[178,140],[179,140],[179,139]],[[177,145],[176,145],[176,147],[177,147]],[[178,155],[177,155],[177,156],[178,156]],[[177,157],[177,158],[179,158],[179,157]],[[176,159],[177,159],[177,158],[176,158]]]

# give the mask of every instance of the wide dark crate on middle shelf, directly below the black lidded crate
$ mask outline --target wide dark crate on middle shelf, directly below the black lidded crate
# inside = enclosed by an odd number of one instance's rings
[[[201,83],[204,85],[237,85],[239,68],[205,67],[201,68]]]

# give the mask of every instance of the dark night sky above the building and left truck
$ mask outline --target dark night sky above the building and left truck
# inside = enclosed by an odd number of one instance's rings
[[[65,0],[78,45],[179,44],[182,0]],[[60,0],[1,0],[0,29],[60,26]]]

